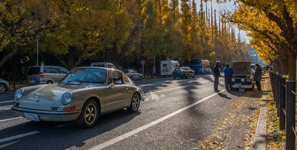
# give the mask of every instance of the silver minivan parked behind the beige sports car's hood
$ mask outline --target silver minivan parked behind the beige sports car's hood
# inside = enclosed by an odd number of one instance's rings
[[[58,66],[31,67],[27,75],[27,86],[57,83],[67,73],[67,69]]]

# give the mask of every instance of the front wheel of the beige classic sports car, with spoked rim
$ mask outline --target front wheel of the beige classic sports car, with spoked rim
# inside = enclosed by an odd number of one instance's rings
[[[87,116],[87,114],[89,115]],[[93,116],[93,117],[92,117]],[[84,128],[92,128],[99,118],[99,107],[95,100],[85,102],[81,114],[76,119],[77,125]]]

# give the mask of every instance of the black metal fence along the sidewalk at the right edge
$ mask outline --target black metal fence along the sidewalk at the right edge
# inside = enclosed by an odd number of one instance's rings
[[[279,117],[279,128],[286,129],[286,150],[295,150],[296,81],[286,81],[282,75],[272,71],[269,71],[269,78]]]

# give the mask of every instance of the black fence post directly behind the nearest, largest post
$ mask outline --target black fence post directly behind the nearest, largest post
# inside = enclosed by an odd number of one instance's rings
[[[284,130],[286,128],[286,114],[284,109],[286,110],[286,78],[280,78],[279,87],[280,87],[280,103],[279,103],[279,111],[280,111],[280,130]]]

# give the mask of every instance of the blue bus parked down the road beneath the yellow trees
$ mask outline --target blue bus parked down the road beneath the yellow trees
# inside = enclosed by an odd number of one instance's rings
[[[203,59],[191,60],[191,69],[193,69],[196,74],[197,73],[199,73],[199,74],[211,73],[211,69],[210,69],[208,60],[203,60]]]

